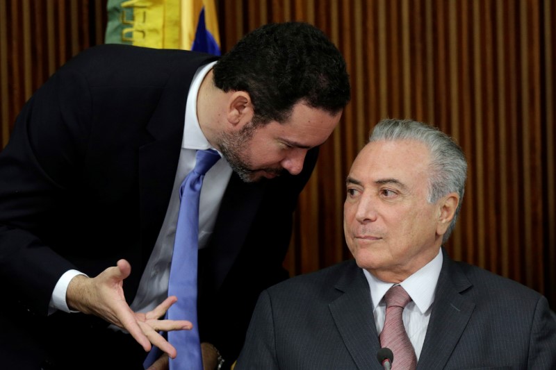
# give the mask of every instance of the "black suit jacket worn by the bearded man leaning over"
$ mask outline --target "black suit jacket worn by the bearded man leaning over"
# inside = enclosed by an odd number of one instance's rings
[[[133,301],[170,201],[188,88],[211,60],[190,51],[93,47],[26,103],[0,153],[0,278],[7,289],[0,364],[10,353],[22,354],[18,364],[55,353],[56,364],[76,351],[81,364],[74,369],[104,359],[107,324],[83,314],[47,318],[51,293],[68,269],[96,276],[126,258],[132,271],[124,289]],[[298,176],[246,184],[234,174],[229,181],[213,237],[199,253],[201,339],[228,364],[261,290],[287,278],[282,261],[293,211],[316,155],[309,151]],[[118,343],[116,353],[126,358]]]

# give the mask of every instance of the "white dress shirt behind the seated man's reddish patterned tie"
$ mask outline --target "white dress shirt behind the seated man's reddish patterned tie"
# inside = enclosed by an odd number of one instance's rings
[[[425,264],[421,269],[416,271],[409,278],[400,283],[412,301],[405,306],[402,317],[404,320],[405,331],[411,341],[411,345],[415,349],[417,360],[419,359],[425,335],[427,334],[427,326],[429,325],[430,312],[432,302],[434,302],[434,292],[436,283],[438,283],[440,270],[442,268],[442,250],[429,263]],[[375,315],[375,325],[377,333],[380,335],[384,328],[384,320],[386,319],[386,303],[384,303],[384,294],[394,284],[385,283],[375,278],[368,271],[363,269],[369,287],[370,296],[373,300],[373,314]]]

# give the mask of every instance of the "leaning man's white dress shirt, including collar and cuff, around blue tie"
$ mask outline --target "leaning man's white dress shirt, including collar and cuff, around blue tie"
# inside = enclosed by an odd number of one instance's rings
[[[179,211],[179,187],[186,175],[195,167],[195,153],[197,150],[214,149],[206,140],[197,119],[197,94],[201,83],[212,69],[215,62],[199,68],[193,77],[187,96],[186,116],[181,152],[179,155],[177,174],[160,233],[154,244],[145,271],[142,274],[138,291],[131,309],[134,312],[148,312],[162,303],[167,297],[170,264],[174,249],[174,237]],[[220,153],[220,156],[222,154]],[[204,248],[213,232],[216,215],[222,203],[224,191],[231,176],[231,167],[224,158],[220,158],[205,175],[199,203],[199,249]],[[133,266],[132,266],[133,268]],[[58,280],[51,299],[51,312],[63,310],[70,312],[65,302],[67,285],[80,271],[67,271]],[[124,280],[125,284],[125,280]],[[114,327],[115,328],[115,327]]]

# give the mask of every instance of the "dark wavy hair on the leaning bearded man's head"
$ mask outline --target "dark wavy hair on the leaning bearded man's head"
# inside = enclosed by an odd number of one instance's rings
[[[304,22],[256,28],[218,60],[213,72],[224,92],[250,94],[254,124],[284,122],[298,102],[336,114],[350,101],[343,56],[325,33]]]

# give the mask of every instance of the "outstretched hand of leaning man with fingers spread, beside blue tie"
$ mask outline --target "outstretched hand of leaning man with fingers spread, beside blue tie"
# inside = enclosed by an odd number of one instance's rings
[[[176,348],[167,342],[158,331],[190,330],[192,323],[186,320],[161,320],[171,305],[177,302],[176,296],[166,298],[163,303],[147,313],[133,312],[124,297],[124,279],[131,273],[131,265],[119,260],[115,267],[108,267],[95,278],[78,275],[67,287],[66,302],[70,309],[85,314],[94,314],[127,330],[145,349],[150,351],[152,344],[175,358]]]

